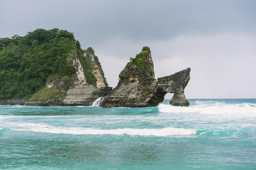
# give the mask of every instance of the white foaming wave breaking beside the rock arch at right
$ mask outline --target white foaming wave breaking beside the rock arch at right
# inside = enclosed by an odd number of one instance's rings
[[[189,106],[177,107],[168,104],[157,106],[161,113],[199,113],[199,114],[255,114],[256,108],[249,104],[229,104],[229,105],[210,105],[210,106]]]

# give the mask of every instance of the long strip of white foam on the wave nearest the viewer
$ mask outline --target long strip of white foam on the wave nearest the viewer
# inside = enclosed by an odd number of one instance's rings
[[[195,135],[195,129],[184,128],[118,128],[118,129],[94,129],[94,128],[81,128],[81,127],[56,127],[48,126],[45,124],[19,124],[11,130],[18,131],[33,131],[33,132],[46,132],[56,134],[74,134],[74,135],[139,135],[139,136],[158,136],[168,137],[174,135]]]

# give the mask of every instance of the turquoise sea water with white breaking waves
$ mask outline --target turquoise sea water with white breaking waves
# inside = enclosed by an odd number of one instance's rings
[[[256,170],[256,99],[0,106],[0,169]]]

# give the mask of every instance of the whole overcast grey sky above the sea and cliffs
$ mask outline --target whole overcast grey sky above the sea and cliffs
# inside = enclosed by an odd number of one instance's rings
[[[92,47],[113,88],[148,46],[156,79],[191,68],[187,99],[256,98],[256,0],[0,0],[0,38],[38,28]]]

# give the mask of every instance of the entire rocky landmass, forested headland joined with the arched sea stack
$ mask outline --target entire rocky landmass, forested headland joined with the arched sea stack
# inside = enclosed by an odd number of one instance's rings
[[[184,88],[190,68],[156,80],[147,46],[130,58],[112,90],[94,50],[82,50],[73,33],[36,29],[0,42],[0,104],[89,106],[99,101],[105,108],[148,107],[174,93],[171,105],[189,106]]]

